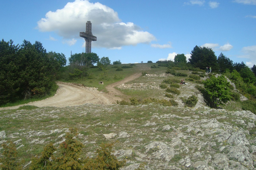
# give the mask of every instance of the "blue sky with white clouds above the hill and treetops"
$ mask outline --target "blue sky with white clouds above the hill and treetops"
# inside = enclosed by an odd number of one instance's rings
[[[79,32],[92,23],[92,52],[111,62],[173,60],[210,47],[256,65],[256,0],[2,0],[0,38],[39,41],[47,51],[85,51]]]

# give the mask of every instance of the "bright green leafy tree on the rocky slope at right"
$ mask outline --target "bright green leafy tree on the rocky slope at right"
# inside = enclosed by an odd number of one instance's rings
[[[217,108],[231,99],[229,85],[229,82],[223,75],[217,78],[211,76],[204,82],[204,88],[211,99],[210,104],[213,108]]]

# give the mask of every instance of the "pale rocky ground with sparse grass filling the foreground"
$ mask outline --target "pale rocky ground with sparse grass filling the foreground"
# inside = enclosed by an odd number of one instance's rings
[[[140,83],[119,85],[159,88]],[[64,141],[65,132],[73,126],[79,129],[78,140],[85,144],[87,156],[95,155],[99,143],[113,142],[114,154],[127,162],[122,170],[135,170],[142,162],[147,170],[256,169],[256,115],[211,109],[193,84],[181,88],[181,95],[198,96],[195,108],[184,108],[177,100],[178,107],[87,103],[2,110],[0,144],[12,140],[18,151],[33,155],[33,150],[50,141],[55,145]],[[24,169],[31,163],[26,160]]]

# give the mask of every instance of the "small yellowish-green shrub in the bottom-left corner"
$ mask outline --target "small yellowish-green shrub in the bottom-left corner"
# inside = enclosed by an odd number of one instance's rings
[[[13,142],[8,141],[1,145],[4,149],[3,156],[0,158],[1,170],[21,170],[22,167],[17,161],[18,152]]]

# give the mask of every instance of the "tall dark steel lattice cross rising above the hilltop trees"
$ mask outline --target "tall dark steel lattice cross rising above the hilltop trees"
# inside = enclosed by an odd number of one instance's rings
[[[80,37],[85,40],[85,53],[92,51],[92,41],[97,41],[97,37],[92,35],[92,23],[91,21],[86,22],[86,31],[80,32]]]

